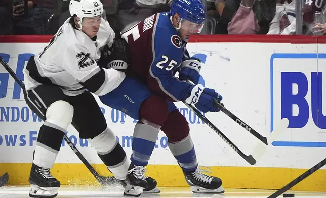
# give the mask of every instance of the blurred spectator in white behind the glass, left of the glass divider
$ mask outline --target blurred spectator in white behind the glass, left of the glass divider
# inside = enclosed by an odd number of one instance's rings
[[[296,1],[290,4],[278,2],[275,17],[270,23],[267,34],[295,34],[296,33]]]

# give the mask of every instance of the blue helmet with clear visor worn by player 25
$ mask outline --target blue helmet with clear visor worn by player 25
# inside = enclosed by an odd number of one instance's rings
[[[200,33],[205,21],[205,8],[200,0],[174,0],[170,14],[174,16],[176,13],[181,17],[181,22],[191,22],[183,23],[185,28],[190,25],[193,33]]]

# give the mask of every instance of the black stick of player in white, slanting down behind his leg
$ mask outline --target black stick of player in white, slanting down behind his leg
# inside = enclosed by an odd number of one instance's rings
[[[27,93],[26,93],[26,89],[25,89],[24,83],[18,78],[18,76],[16,75],[16,73],[10,68],[10,66],[3,60],[3,58],[1,56],[0,56],[0,63],[4,66],[4,68],[8,71],[8,73],[15,79],[15,81],[22,88],[23,94],[24,94],[24,98],[26,100]],[[42,118],[43,121],[45,120],[44,117],[41,117],[41,118]],[[77,147],[75,145],[73,145],[73,143],[69,140],[69,138],[67,137],[66,134],[63,136],[63,139],[67,142],[67,144],[70,146],[70,148],[72,149],[72,151],[78,156],[78,158],[80,159],[80,161],[84,163],[84,165],[88,168],[88,170],[93,174],[93,176],[97,179],[97,181],[101,185],[109,185],[113,181],[116,181],[115,177],[105,177],[105,176],[102,176],[102,175],[98,174],[96,172],[96,170],[92,167],[92,165],[79,152],[79,150],[77,149]]]

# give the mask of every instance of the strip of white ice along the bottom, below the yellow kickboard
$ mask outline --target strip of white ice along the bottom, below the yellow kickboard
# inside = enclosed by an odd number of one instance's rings
[[[141,197],[147,198],[184,198],[184,197],[212,197],[214,194],[201,194],[192,193],[190,188],[172,188],[172,187],[159,187],[161,193],[159,194],[142,194]],[[0,197],[29,197],[28,196],[29,186],[27,185],[15,185],[15,186],[4,186],[0,188]],[[275,190],[249,190],[249,189],[225,189],[223,195],[215,195],[214,198],[257,198],[265,197],[267,198]],[[326,198],[326,192],[303,192],[303,191],[288,191],[286,193],[294,193],[295,197],[300,198]],[[57,197],[113,197],[122,198],[123,188],[121,186],[110,186],[110,187],[100,187],[100,186],[61,186],[59,188],[59,193]],[[282,197],[282,196],[279,196]]]

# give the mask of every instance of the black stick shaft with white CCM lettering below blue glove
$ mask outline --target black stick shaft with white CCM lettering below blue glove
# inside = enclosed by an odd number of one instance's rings
[[[259,134],[256,130],[254,130],[252,127],[250,127],[248,124],[243,122],[241,119],[239,119],[236,115],[234,115],[232,112],[230,112],[228,109],[226,109],[218,100],[214,99],[214,105],[219,110],[221,110],[223,113],[228,115],[232,120],[234,120],[236,123],[238,123],[240,126],[245,128],[248,132],[253,134],[255,137],[257,137],[260,141],[262,141],[264,144],[268,145],[267,138]]]

